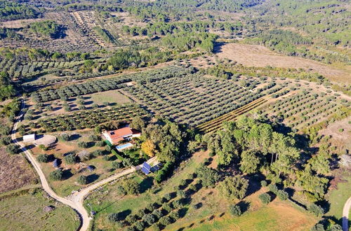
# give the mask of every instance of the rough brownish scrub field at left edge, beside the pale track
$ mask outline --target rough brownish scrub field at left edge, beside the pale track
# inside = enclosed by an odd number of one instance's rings
[[[35,183],[37,176],[22,155],[9,155],[0,148],[0,193]]]

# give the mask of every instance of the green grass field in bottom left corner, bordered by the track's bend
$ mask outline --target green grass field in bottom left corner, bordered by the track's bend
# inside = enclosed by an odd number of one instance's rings
[[[55,210],[43,211],[53,205]],[[69,207],[47,199],[42,190],[0,200],[0,230],[77,230],[79,218]]]

